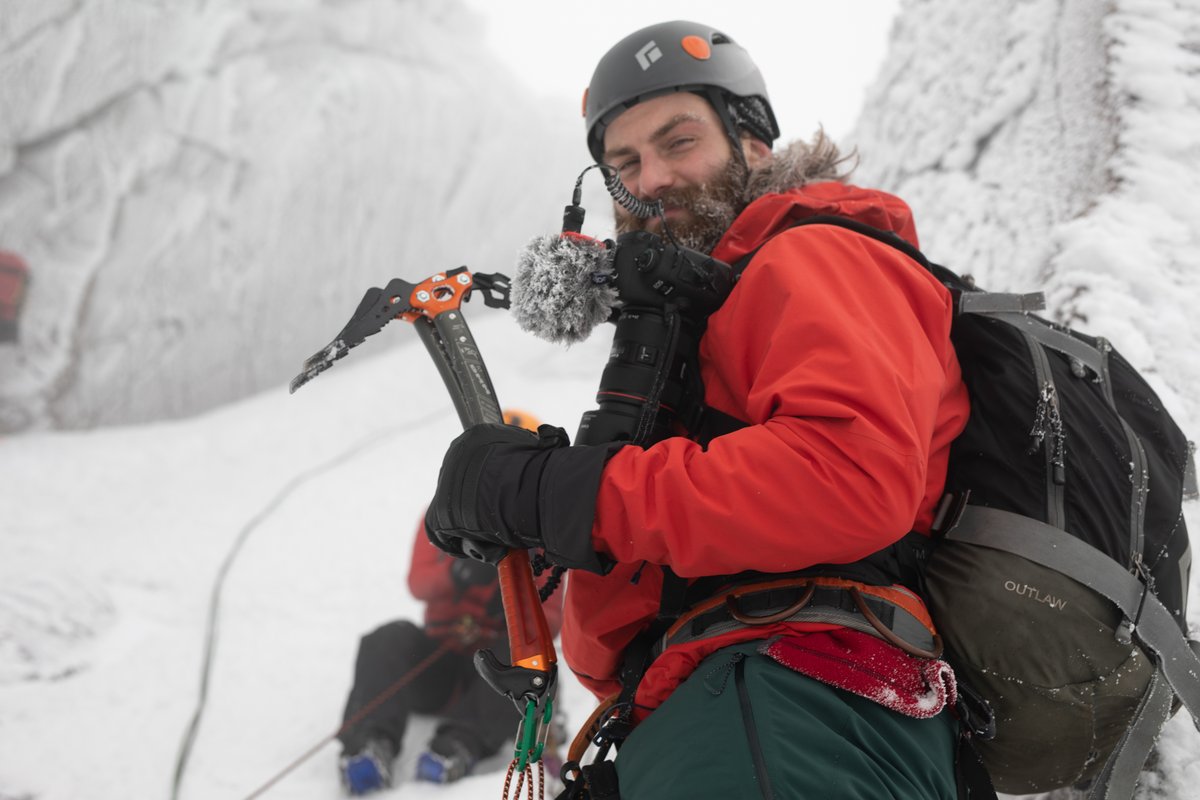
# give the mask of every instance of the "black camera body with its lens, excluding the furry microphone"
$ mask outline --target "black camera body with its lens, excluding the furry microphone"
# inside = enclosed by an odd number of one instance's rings
[[[583,415],[575,441],[649,445],[671,435],[689,390],[702,392],[700,337],[732,290],[733,270],[644,230],[622,234],[611,261],[619,302],[610,321],[617,330],[600,375],[599,408]],[[640,435],[648,414],[653,420]]]

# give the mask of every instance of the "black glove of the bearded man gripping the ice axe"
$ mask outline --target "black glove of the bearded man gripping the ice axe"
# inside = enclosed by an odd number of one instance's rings
[[[545,548],[568,567],[605,572],[592,549],[600,474],[622,445],[571,447],[566,432],[476,425],[450,444],[425,533],[451,555],[496,564],[512,548]]]

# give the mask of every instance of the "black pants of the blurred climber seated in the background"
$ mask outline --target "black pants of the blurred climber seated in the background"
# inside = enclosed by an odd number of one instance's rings
[[[440,642],[409,621],[388,622],[371,631],[359,643],[354,666],[354,687],[346,702],[343,723],[371,703],[380,692],[438,649]],[[490,643],[500,658],[508,657],[508,643]],[[403,688],[371,711],[361,722],[337,738],[343,752],[354,753],[367,739],[392,742],[396,752],[404,739],[410,714],[439,714],[443,722],[436,738],[454,736],[472,754],[486,758],[510,742],[520,717],[512,700],[499,694],[475,672],[473,650],[448,650]]]

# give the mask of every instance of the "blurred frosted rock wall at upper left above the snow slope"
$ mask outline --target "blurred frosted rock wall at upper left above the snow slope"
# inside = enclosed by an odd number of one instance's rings
[[[368,287],[509,271],[587,155],[481,42],[445,0],[0,0],[0,432],[282,391]]]

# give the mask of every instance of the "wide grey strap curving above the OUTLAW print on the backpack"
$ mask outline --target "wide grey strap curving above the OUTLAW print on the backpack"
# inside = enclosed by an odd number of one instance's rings
[[[1020,555],[1108,597],[1126,619],[1136,622],[1135,636],[1154,655],[1170,688],[1200,728],[1200,649],[1184,638],[1166,606],[1116,561],[1064,530],[984,506],[968,505],[946,536]]]

